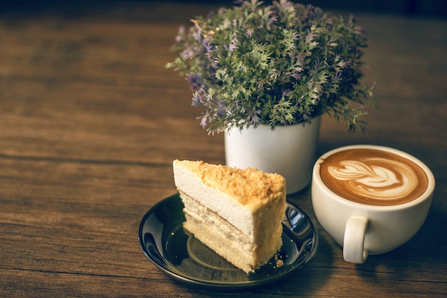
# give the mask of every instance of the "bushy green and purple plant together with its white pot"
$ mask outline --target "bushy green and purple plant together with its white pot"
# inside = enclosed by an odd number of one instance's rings
[[[248,0],[192,22],[189,30],[180,28],[173,46],[178,56],[166,67],[189,81],[192,104],[202,108],[201,126],[211,134],[225,132],[228,165],[283,174],[257,164],[268,160],[278,165],[274,157],[280,155],[306,173],[307,181],[292,182],[296,187],[288,178],[296,174],[284,175],[288,192],[295,192],[310,181],[313,155],[303,157],[302,152],[315,153],[321,114],[344,119],[348,131],[365,129],[362,116],[371,103],[372,86],[360,81],[366,37],[352,16],[345,23],[311,5]],[[291,148],[290,138],[309,128],[311,134],[298,136],[298,147]],[[294,131],[273,136],[283,129]],[[250,131],[255,136],[247,136]],[[260,131],[268,136],[259,136]],[[233,137],[246,144],[233,145]],[[271,146],[269,139],[274,139]],[[277,144],[278,139],[287,144]],[[256,157],[256,148],[266,157]],[[291,162],[281,149],[307,162]],[[247,157],[239,158],[244,150]],[[230,152],[238,157],[229,157]],[[247,159],[251,162],[243,163]]]

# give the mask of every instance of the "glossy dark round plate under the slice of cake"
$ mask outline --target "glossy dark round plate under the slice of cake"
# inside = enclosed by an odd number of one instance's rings
[[[139,228],[141,249],[159,269],[175,279],[213,289],[247,289],[276,281],[303,267],[316,252],[318,234],[301,209],[287,203],[283,218],[283,246],[276,259],[251,274],[233,267],[225,259],[187,234],[184,205],[179,194],[171,195],[144,215]]]

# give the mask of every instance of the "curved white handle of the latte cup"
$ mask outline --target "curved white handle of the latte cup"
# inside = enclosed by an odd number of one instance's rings
[[[362,264],[368,257],[368,251],[363,249],[365,233],[368,229],[366,217],[350,217],[346,222],[343,237],[343,259],[346,262]]]

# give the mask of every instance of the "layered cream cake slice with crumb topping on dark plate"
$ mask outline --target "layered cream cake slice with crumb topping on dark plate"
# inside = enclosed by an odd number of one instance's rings
[[[279,174],[175,160],[184,229],[245,272],[281,248],[286,182]]]

